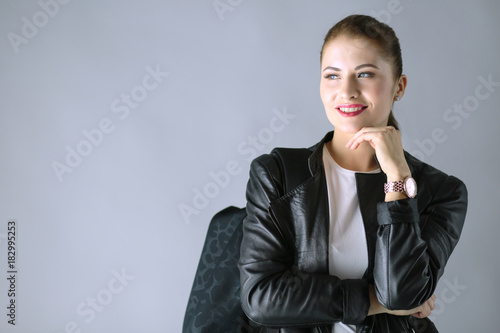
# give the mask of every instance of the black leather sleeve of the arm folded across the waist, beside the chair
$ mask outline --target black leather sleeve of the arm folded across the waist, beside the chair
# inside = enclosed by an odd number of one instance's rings
[[[268,327],[361,323],[370,305],[366,280],[301,272],[294,263],[293,241],[269,210],[282,195],[279,174],[270,155],[251,164],[239,261],[243,310]]]

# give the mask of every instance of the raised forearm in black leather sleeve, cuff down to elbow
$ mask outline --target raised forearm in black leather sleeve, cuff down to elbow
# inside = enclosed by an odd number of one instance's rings
[[[435,270],[429,267],[426,242],[420,237],[413,199],[379,204],[374,279],[377,298],[388,309],[409,309],[434,292]]]

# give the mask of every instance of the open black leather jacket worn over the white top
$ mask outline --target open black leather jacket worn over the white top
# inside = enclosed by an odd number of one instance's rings
[[[357,332],[435,331],[428,319],[367,317],[368,286],[388,309],[411,309],[432,296],[462,231],[465,185],[406,152],[414,199],[384,202],[385,174],[356,174],[369,264],[362,279],[340,280],[328,273],[322,148],[332,137],[310,148],[310,177],[286,193],[275,153],[252,162],[239,261],[243,310],[261,332],[331,332],[338,321]]]

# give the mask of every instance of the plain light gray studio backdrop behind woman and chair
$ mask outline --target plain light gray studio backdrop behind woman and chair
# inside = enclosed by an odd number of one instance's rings
[[[405,148],[468,185],[435,322],[496,332],[496,0],[2,0],[0,331],[180,332],[250,161],[331,130],[319,50],[353,13],[400,37]]]

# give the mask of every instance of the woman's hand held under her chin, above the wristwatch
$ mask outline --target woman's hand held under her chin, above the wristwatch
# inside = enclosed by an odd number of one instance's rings
[[[392,126],[363,127],[345,145],[349,149],[357,149],[364,141],[368,142],[377,156],[387,181],[399,181],[410,176],[410,168],[406,163],[401,142],[401,132]]]

